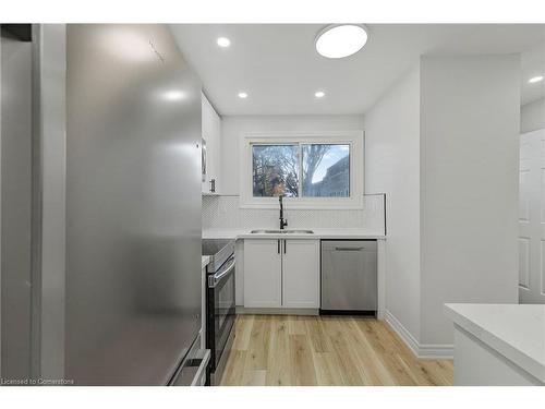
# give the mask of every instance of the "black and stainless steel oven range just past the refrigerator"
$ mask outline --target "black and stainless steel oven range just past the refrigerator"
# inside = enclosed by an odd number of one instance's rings
[[[206,348],[210,350],[209,383],[216,385],[229,357],[234,337],[234,240],[203,240],[209,255],[206,293]]]

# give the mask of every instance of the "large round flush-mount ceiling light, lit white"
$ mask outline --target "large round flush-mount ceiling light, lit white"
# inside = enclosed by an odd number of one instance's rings
[[[316,36],[316,51],[326,58],[344,58],[360,51],[368,39],[363,24],[332,24]]]

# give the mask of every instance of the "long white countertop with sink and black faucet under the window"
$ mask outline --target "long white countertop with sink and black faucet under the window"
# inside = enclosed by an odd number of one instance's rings
[[[298,233],[251,233],[252,230],[274,230],[275,228],[264,227],[247,227],[247,228],[232,228],[232,229],[206,229],[203,230],[203,239],[368,239],[368,240],[384,240],[385,234],[382,231],[374,231],[360,228],[299,228],[294,227],[293,230],[312,230],[312,234],[298,234]],[[290,229],[288,229],[290,230]]]

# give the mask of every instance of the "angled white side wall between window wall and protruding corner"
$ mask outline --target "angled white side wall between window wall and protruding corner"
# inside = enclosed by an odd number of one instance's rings
[[[386,309],[420,334],[420,68],[365,116],[365,193],[386,193]]]

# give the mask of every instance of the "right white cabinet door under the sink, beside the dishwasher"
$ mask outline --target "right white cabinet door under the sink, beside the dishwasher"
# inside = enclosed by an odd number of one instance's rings
[[[319,241],[282,243],[282,306],[319,308]]]

